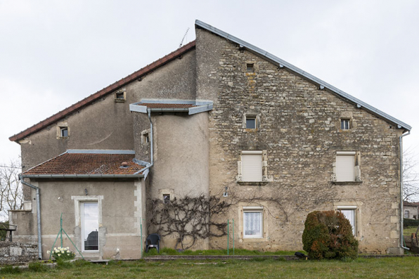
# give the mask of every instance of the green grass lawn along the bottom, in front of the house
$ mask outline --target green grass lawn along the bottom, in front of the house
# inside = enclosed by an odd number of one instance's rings
[[[419,257],[354,261],[77,261],[46,271],[1,272],[1,278],[417,278]]]

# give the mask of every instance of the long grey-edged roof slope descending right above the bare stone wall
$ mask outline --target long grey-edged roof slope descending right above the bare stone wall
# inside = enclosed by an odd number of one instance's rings
[[[202,22],[200,20],[195,20],[195,25],[203,28],[209,32],[212,32],[214,34],[219,35],[220,37],[223,37],[225,39],[228,39],[229,41],[233,41],[234,43],[238,44],[240,47],[246,48],[247,50],[251,51],[252,53],[255,53],[258,56],[262,56],[262,58],[265,58],[267,60],[270,60],[274,64],[278,65],[278,67],[285,67],[288,70],[291,70],[292,72],[295,72],[299,74],[300,76],[309,79],[309,81],[314,82],[315,84],[318,84],[320,89],[328,89],[329,91],[332,91],[333,93],[337,94],[338,96],[345,98],[349,100],[350,102],[354,103],[358,108],[363,108],[364,110],[367,110],[368,112],[372,113],[373,115],[376,115],[378,117],[381,117],[382,119],[385,119],[389,122],[392,122],[394,124],[397,124],[398,128],[404,128],[408,131],[412,129],[411,126],[408,124],[401,122],[399,119],[396,119],[390,115],[387,115],[387,113],[382,112],[381,110],[378,110],[377,108],[374,108],[372,105],[368,105],[367,103],[364,103],[362,100],[359,100],[355,98],[354,96],[349,95],[348,93],[345,93],[344,91],[337,89],[335,86],[332,86],[328,84],[327,82],[323,82],[323,80],[318,79],[317,77],[314,77],[313,75],[309,74],[308,72],[304,72],[303,70],[299,69],[298,67],[295,67],[295,65],[292,65],[281,58],[278,58],[274,56],[273,54],[264,51],[261,48],[258,48],[257,46],[253,46],[252,44],[247,43],[247,41],[243,41],[242,39],[238,39],[237,37],[232,36],[231,34],[228,34],[227,32],[221,31],[215,27],[212,27],[211,25]]]

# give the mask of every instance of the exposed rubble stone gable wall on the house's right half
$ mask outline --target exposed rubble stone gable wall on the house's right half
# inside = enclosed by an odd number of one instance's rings
[[[401,130],[204,30],[197,30],[197,59],[211,59],[200,51],[209,44],[219,59],[200,70],[217,77],[211,86],[218,90],[209,113],[209,190],[228,188],[225,199],[234,205],[219,218],[235,219],[236,247],[302,249],[307,214],[345,205],[356,206],[362,252],[399,252]],[[257,115],[257,129],[244,128],[246,113]],[[340,118],[350,119],[351,129],[342,131]],[[266,150],[264,183],[238,183],[241,150]],[[333,183],[336,152],[344,150],[359,155],[361,181]],[[246,206],[263,206],[263,238],[243,238]],[[226,238],[210,245],[225,248]]]

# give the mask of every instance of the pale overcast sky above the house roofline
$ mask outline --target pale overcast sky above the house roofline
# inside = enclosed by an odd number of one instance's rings
[[[205,3],[205,4],[204,4]],[[8,137],[195,39],[195,19],[413,126],[419,1],[0,0],[0,164]]]

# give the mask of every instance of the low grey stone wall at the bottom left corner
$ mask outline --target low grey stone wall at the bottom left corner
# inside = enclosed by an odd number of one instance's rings
[[[0,241],[0,264],[18,264],[38,259],[38,245]]]

